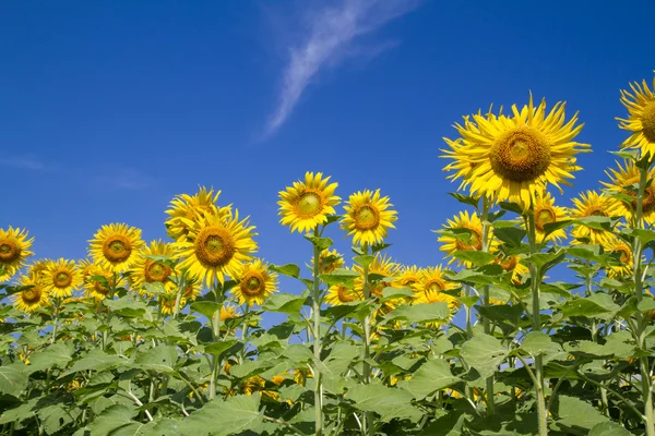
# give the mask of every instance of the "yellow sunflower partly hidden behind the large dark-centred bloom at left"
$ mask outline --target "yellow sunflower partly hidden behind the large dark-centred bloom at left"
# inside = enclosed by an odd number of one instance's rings
[[[166,220],[166,232],[174,240],[184,240],[195,222],[205,215],[218,215],[227,218],[231,206],[218,207],[216,202],[221,191],[214,194],[214,189],[202,186],[195,195],[180,194],[170,202],[166,210],[169,218]]]

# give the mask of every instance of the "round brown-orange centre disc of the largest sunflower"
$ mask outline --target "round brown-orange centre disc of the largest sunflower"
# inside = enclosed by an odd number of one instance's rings
[[[501,135],[491,146],[491,168],[512,182],[529,182],[544,174],[550,165],[547,137],[532,128],[516,128]]]

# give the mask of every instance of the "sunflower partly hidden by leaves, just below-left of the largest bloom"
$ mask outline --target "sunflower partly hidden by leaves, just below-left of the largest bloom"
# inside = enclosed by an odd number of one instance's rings
[[[441,250],[445,253],[446,257],[451,257],[448,264],[452,264],[456,261],[457,265],[466,266],[471,268],[473,264],[468,261],[461,261],[453,257],[453,253],[456,251],[481,251],[483,250],[483,221],[478,217],[477,213],[468,215],[467,210],[461,211],[460,215],[455,215],[453,219],[448,219],[446,225],[443,226],[450,230],[467,230],[469,232],[468,240],[460,240],[455,237],[442,235],[439,238],[439,242],[442,243]],[[489,251],[496,251],[498,242],[493,239],[493,231],[489,228]]]

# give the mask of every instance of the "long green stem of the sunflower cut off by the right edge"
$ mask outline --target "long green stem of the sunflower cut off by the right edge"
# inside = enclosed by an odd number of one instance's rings
[[[634,227],[635,229],[643,228],[643,202],[644,202],[644,193],[646,191],[646,183],[648,177],[648,169],[651,165],[648,162],[647,166],[640,168],[640,178],[639,178],[639,193],[636,196],[636,210],[635,210],[635,219]],[[642,252],[643,246],[641,240],[635,237],[633,239],[633,278],[634,278],[634,294],[636,296],[638,303],[640,303],[643,299],[643,282],[642,282]],[[646,347],[646,330],[647,320],[644,318],[644,315],[641,312],[636,313],[636,338],[638,338],[638,348],[640,350],[647,350]],[[641,372],[641,390],[642,397],[644,400],[644,415],[646,416],[646,435],[655,436],[655,414],[653,412],[653,393],[651,389],[651,373],[648,370],[648,356],[642,355],[639,358],[640,362],[640,372]]]

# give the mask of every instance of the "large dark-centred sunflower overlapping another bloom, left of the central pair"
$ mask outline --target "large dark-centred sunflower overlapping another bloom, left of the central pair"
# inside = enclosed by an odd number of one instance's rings
[[[257,243],[254,226],[248,218],[239,221],[239,211],[227,218],[221,211],[199,218],[186,240],[174,245],[182,261],[180,269],[188,269],[192,278],[211,287],[215,280],[225,282],[225,276],[239,276],[241,263],[252,258]]]

